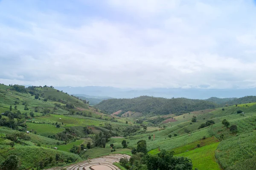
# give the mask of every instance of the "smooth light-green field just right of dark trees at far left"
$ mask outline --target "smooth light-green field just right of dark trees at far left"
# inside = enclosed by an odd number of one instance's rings
[[[34,130],[38,134],[43,136],[48,136],[52,134],[56,134],[59,132],[62,132],[65,130],[64,128],[57,128],[55,125],[49,125],[49,124],[39,124],[39,123],[29,123],[27,122],[27,130]]]

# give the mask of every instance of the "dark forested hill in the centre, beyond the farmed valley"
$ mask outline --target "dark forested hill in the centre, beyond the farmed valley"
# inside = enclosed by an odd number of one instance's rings
[[[166,99],[151,96],[140,96],[133,99],[108,99],[100,102],[98,105],[95,105],[95,107],[108,113],[122,110],[159,115],[170,113],[180,115],[191,111],[216,108],[217,106],[218,105],[213,102],[199,99]]]

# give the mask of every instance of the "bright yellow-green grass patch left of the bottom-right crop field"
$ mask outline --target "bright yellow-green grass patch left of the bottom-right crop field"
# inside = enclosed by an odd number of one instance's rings
[[[192,160],[193,168],[198,168],[198,170],[221,170],[215,161],[215,150],[218,144],[219,142],[209,144],[175,156],[188,157]]]

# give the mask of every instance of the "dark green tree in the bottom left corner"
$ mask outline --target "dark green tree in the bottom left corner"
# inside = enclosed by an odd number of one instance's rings
[[[0,165],[1,170],[17,170],[20,167],[20,160],[16,155],[10,155]]]

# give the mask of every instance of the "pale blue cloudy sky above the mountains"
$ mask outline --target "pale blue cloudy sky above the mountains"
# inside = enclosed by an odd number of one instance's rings
[[[0,83],[255,88],[254,0],[0,0]]]

